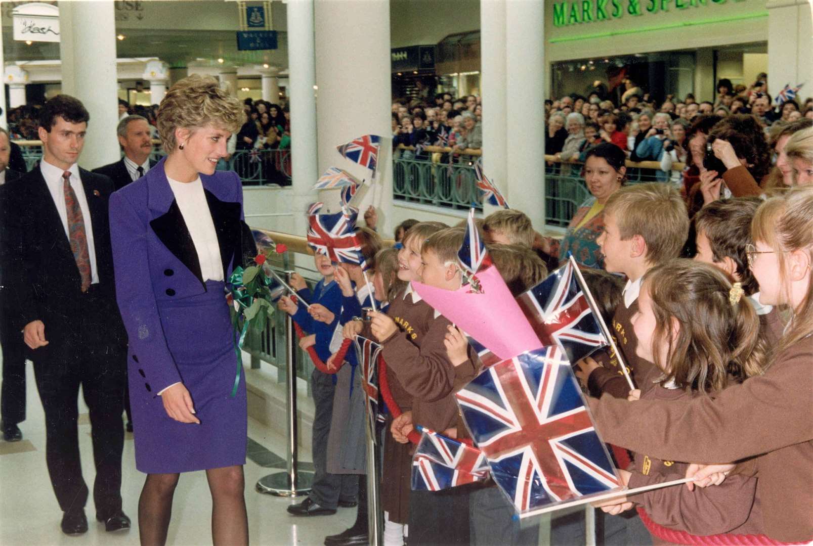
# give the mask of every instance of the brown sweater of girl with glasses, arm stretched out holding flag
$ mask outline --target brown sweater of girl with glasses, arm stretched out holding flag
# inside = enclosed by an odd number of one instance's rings
[[[590,399],[602,440],[663,460],[754,457],[763,529],[782,542],[813,539],[813,336],[780,353],[764,375],[714,399]]]

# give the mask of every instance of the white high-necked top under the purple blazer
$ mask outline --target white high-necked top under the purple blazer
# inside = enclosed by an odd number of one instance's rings
[[[224,280],[215,223],[211,219],[200,177],[192,182],[178,182],[168,176],[167,180],[198,252],[203,280]]]

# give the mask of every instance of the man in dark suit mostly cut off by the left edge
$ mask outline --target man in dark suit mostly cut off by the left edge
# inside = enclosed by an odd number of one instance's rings
[[[6,189],[7,182],[20,178],[20,173],[8,168],[11,139],[0,128],[0,346],[2,346],[2,392],[0,392],[0,431],[2,439],[17,442],[23,439],[18,423],[25,420],[25,357],[20,332],[14,332],[7,311],[8,288],[3,284],[7,271]]]

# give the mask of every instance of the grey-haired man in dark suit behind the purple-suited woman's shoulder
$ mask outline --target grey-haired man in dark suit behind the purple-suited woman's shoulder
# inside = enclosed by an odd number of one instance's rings
[[[150,160],[152,139],[150,123],[145,117],[128,115],[121,119],[116,133],[119,135],[124,157],[110,165],[93,169],[93,172],[109,177],[113,180],[115,189],[122,189],[133,180],[146,175],[156,162]]]

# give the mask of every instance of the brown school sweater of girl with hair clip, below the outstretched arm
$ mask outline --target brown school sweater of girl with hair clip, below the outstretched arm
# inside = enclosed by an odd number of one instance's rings
[[[681,389],[654,386],[641,400],[691,400],[693,394]],[[628,470],[630,488],[683,478],[689,465],[685,462],[663,461],[646,453],[635,453]],[[706,536],[721,533],[741,535],[761,534],[762,513],[754,503],[757,479],[731,475],[717,487],[695,487],[691,492],[683,485],[673,485],[629,496],[646,509],[652,521],[673,531],[686,531]]]

